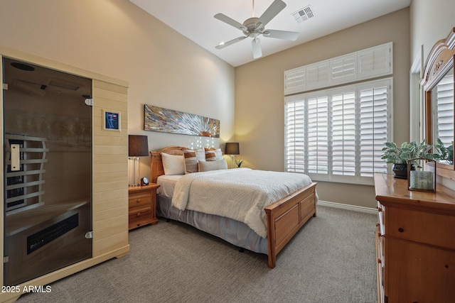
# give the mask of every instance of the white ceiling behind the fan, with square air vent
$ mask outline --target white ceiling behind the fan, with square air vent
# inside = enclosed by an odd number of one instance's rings
[[[245,37],[239,28],[214,18],[223,13],[237,23],[261,17],[274,0],[129,0],[178,33],[236,67],[255,60],[252,38],[217,49],[219,43]],[[283,0],[286,7],[266,30],[298,32],[295,41],[259,35],[262,57],[341,31],[410,6],[411,0]],[[254,10],[253,10],[254,9]]]

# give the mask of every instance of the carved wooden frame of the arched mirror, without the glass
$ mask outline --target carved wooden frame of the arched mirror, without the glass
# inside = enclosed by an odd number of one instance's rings
[[[433,115],[432,115],[432,89],[450,71],[454,70],[455,57],[455,28],[452,28],[447,38],[437,41],[429,52],[427,61],[424,65],[424,73],[420,84],[424,89],[424,109],[425,122],[424,133],[428,144],[437,143],[437,138],[433,138]],[[455,112],[455,107],[454,107]],[[455,128],[452,128],[455,129]],[[455,135],[455,131],[454,131]],[[455,159],[452,159],[452,163]],[[453,164],[437,164],[437,175],[448,177],[455,180],[455,167]]]

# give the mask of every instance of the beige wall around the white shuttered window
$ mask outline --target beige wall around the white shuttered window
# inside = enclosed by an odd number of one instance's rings
[[[247,166],[262,170],[284,170],[284,70],[390,41],[393,42],[394,60],[393,136],[395,141],[407,141],[409,20],[409,9],[402,9],[237,67],[235,135]],[[323,201],[375,206],[373,186],[319,182],[318,193]]]

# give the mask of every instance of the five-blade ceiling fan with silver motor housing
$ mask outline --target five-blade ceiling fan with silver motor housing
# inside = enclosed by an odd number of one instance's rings
[[[255,0],[253,0],[253,16],[248,18],[244,23],[239,23],[234,19],[224,15],[223,13],[217,13],[214,17],[220,21],[228,23],[230,26],[240,29],[245,35],[242,35],[238,38],[232,39],[228,42],[222,42],[215,46],[218,50],[225,48],[226,46],[237,43],[245,38],[251,37],[253,58],[257,59],[262,57],[261,41],[259,40],[259,35],[263,35],[267,38],[278,38],[285,40],[295,41],[299,36],[299,33],[293,31],[277,31],[265,29],[267,23],[269,23],[277,14],[286,7],[286,4],[281,0],[274,0],[270,4],[269,8],[262,13],[262,16],[259,18],[255,17]]]

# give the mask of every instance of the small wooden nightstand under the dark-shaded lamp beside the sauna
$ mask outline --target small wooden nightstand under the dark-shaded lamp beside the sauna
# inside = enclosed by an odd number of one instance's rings
[[[158,184],[128,188],[129,230],[147,224],[157,224],[156,189]]]

